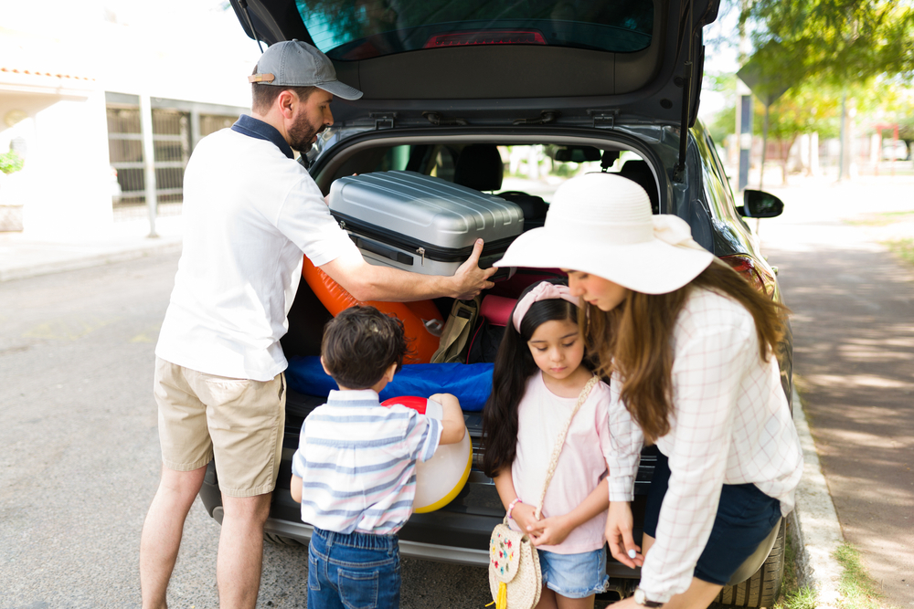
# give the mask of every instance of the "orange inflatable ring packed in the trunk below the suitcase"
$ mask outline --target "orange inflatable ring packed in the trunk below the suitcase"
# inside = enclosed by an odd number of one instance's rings
[[[409,348],[412,351],[410,363],[429,363],[431,356],[438,351],[441,339],[432,334],[426,327],[426,321],[437,320],[438,327],[444,327],[441,313],[431,300],[418,300],[416,302],[362,302],[347,292],[343,286],[336,283],[320,268],[315,267],[308,257],[304,257],[302,277],[314,295],[321,301],[326,310],[336,317],[341,310],[357,305],[371,305],[377,310],[388,315],[393,315],[403,322],[403,330],[409,339]]]

